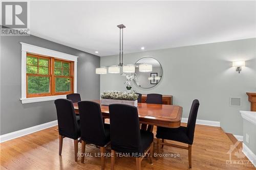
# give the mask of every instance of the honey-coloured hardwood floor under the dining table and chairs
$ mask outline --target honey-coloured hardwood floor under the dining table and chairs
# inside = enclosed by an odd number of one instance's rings
[[[81,163],[79,156],[78,161],[74,161],[74,141],[72,139],[63,139],[62,154],[59,156],[59,135],[56,129],[55,126],[1,143],[0,169],[101,169],[100,155],[98,157],[86,156],[84,164]],[[156,128],[153,132],[156,133]],[[156,152],[156,140],[154,142],[154,152]],[[252,164],[249,164],[250,167],[245,165],[228,167],[226,165],[226,160],[229,160],[227,152],[231,144],[233,144],[232,141],[221,128],[197,125],[192,146],[192,169],[255,169]],[[232,152],[231,160],[248,160],[246,157],[238,158],[236,156],[239,153],[238,149],[235,148]],[[110,147],[106,148],[106,152],[111,153]],[[180,157],[160,157],[158,160],[154,158],[153,165],[145,158],[141,162],[141,168],[189,169],[186,150],[164,145],[160,152],[179,153]],[[78,153],[81,153],[81,143],[78,143]],[[88,144],[86,153],[94,156],[94,154],[100,153],[100,149]],[[110,166],[111,157],[107,157],[105,169],[110,169]],[[136,159],[117,157],[115,169],[136,169]]]

